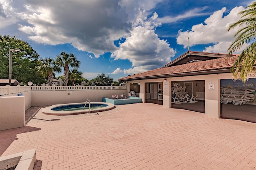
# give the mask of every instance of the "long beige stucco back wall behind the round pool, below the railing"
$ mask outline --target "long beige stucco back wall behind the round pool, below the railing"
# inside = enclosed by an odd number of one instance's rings
[[[122,95],[126,89],[118,90],[77,90],[77,91],[32,91],[32,106],[47,106],[65,103],[102,102],[103,97],[112,99],[112,95]]]

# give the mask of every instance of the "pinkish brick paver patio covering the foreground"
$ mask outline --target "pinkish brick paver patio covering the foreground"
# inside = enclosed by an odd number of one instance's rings
[[[25,127],[0,132],[1,156],[36,148],[34,170],[256,168],[255,123],[152,103],[99,115],[34,115]]]

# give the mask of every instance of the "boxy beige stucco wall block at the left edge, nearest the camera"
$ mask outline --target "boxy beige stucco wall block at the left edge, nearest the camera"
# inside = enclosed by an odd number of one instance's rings
[[[25,97],[0,98],[0,130],[25,126]]]

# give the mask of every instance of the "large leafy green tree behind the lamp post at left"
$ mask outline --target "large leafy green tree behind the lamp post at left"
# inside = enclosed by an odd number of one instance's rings
[[[39,55],[27,42],[16,39],[14,36],[0,36],[0,78],[8,79],[9,50],[19,48],[21,51],[12,53],[12,79],[26,84],[42,84],[44,77],[36,74],[35,67],[41,65]]]

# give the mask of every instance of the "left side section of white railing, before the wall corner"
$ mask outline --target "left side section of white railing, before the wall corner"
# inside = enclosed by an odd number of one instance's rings
[[[14,93],[22,93],[22,92],[26,92],[26,91],[31,91],[31,87],[30,86],[10,86],[10,85],[6,85],[6,86],[0,86],[0,96],[1,95],[10,95],[10,94],[14,94]]]

